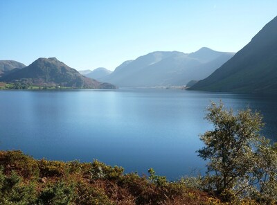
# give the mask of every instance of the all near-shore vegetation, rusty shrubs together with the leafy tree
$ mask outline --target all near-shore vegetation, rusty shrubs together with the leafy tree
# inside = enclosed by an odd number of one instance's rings
[[[214,130],[200,136],[205,176],[167,181],[123,173],[100,161],[36,160],[0,151],[0,204],[277,204],[277,145],[259,131],[262,117],[212,103]]]

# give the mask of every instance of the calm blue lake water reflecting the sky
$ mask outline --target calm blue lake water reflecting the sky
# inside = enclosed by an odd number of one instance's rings
[[[260,110],[262,130],[276,141],[277,101],[272,96],[181,89],[0,91],[0,149],[36,159],[93,161],[174,180],[204,172],[197,157],[210,100],[234,110]]]

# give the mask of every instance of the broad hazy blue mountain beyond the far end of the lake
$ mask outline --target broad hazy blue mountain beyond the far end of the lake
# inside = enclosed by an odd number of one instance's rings
[[[118,87],[154,87],[184,85],[190,80],[201,80],[213,73],[233,53],[201,48],[195,53],[156,51],[123,62],[113,73],[101,78]]]

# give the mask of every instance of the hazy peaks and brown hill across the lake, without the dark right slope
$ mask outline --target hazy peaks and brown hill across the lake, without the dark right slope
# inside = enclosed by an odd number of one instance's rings
[[[93,71],[80,71],[82,75],[55,57],[39,58],[29,66],[15,61],[2,61],[6,64],[9,62],[10,66],[5,64],[5,73],[2,73],[0,81],[24,80],[39,86],[76,88],[114,88],[112,84],[118,87],[184,86],[190,80],[206,78],[233,55],[205,47],[189,54],[156,51],[136,60],[125,61],[114,72],[101,67]]]

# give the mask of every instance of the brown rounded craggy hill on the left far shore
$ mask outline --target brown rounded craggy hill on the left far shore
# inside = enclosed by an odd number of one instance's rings
[[[114,85],[86,78],[55,57],[41,57],[29,66],[0,78],[3,82],[24,80],[39,86],[61,86],[84,89],[113,89]]]

